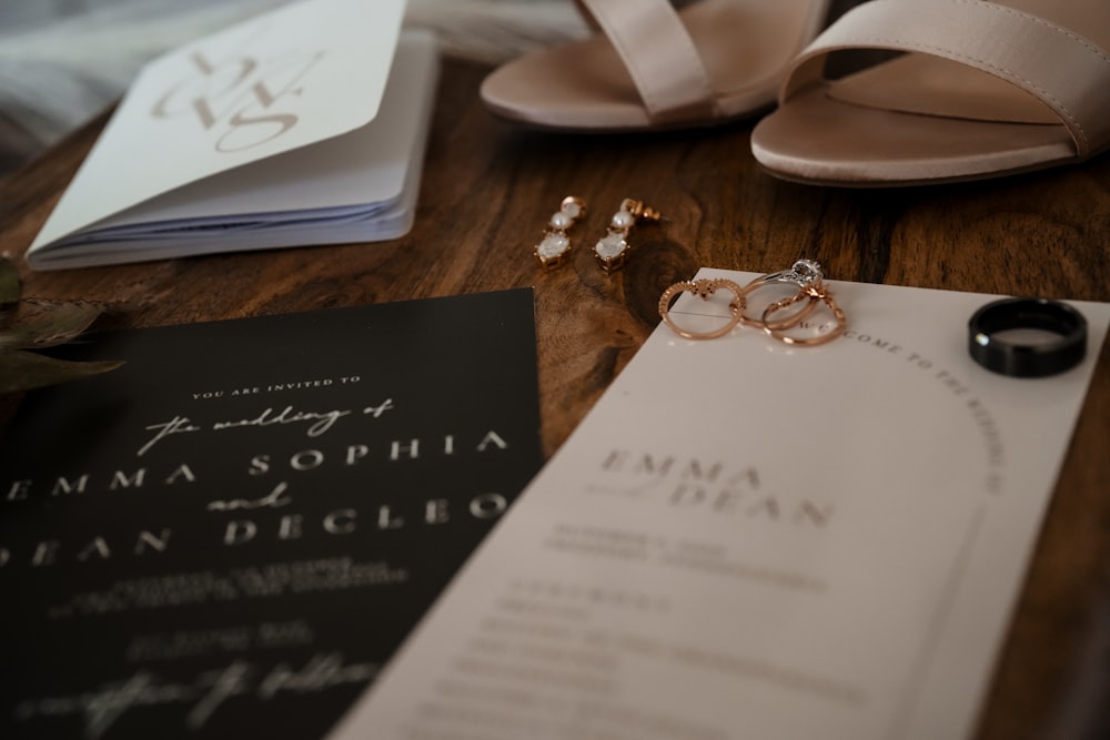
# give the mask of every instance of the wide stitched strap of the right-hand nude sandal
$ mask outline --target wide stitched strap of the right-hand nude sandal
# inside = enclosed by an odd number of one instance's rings
[[[824,82],[828,53],[860,48],[931,54],[1006,80],[1052,110],[1080,158],[1110,142],[1107,51],[1045,18],[983,0],[871,0],[854,8],[798,57],[780,102]]]

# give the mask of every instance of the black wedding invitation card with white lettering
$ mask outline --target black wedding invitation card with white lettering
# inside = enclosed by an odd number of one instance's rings
[[[90,335],[0,448],[0,738],[320,738],[538,470],[532,292]]]

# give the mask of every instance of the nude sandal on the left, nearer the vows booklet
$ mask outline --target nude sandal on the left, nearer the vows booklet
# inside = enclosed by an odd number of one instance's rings
[[[495,70],[482,99],[539,128],[712,125],[770,108],[830,0],[579,0],[599,32]]]

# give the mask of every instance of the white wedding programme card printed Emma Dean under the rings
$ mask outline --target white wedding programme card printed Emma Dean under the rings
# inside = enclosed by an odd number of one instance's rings
[[[1030,379],[996,296],[829,285],[821,346],[660,325],[332,740],[968,737],[1110,304]]]

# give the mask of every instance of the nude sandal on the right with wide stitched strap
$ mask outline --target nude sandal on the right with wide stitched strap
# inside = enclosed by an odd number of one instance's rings
[[[908,53],[825,79],[847,49]],[[1108,0],[872,0],[798,57],[751,151],[786,180],[849,186],[1079,162],[1110,148],[1108,50]]]

